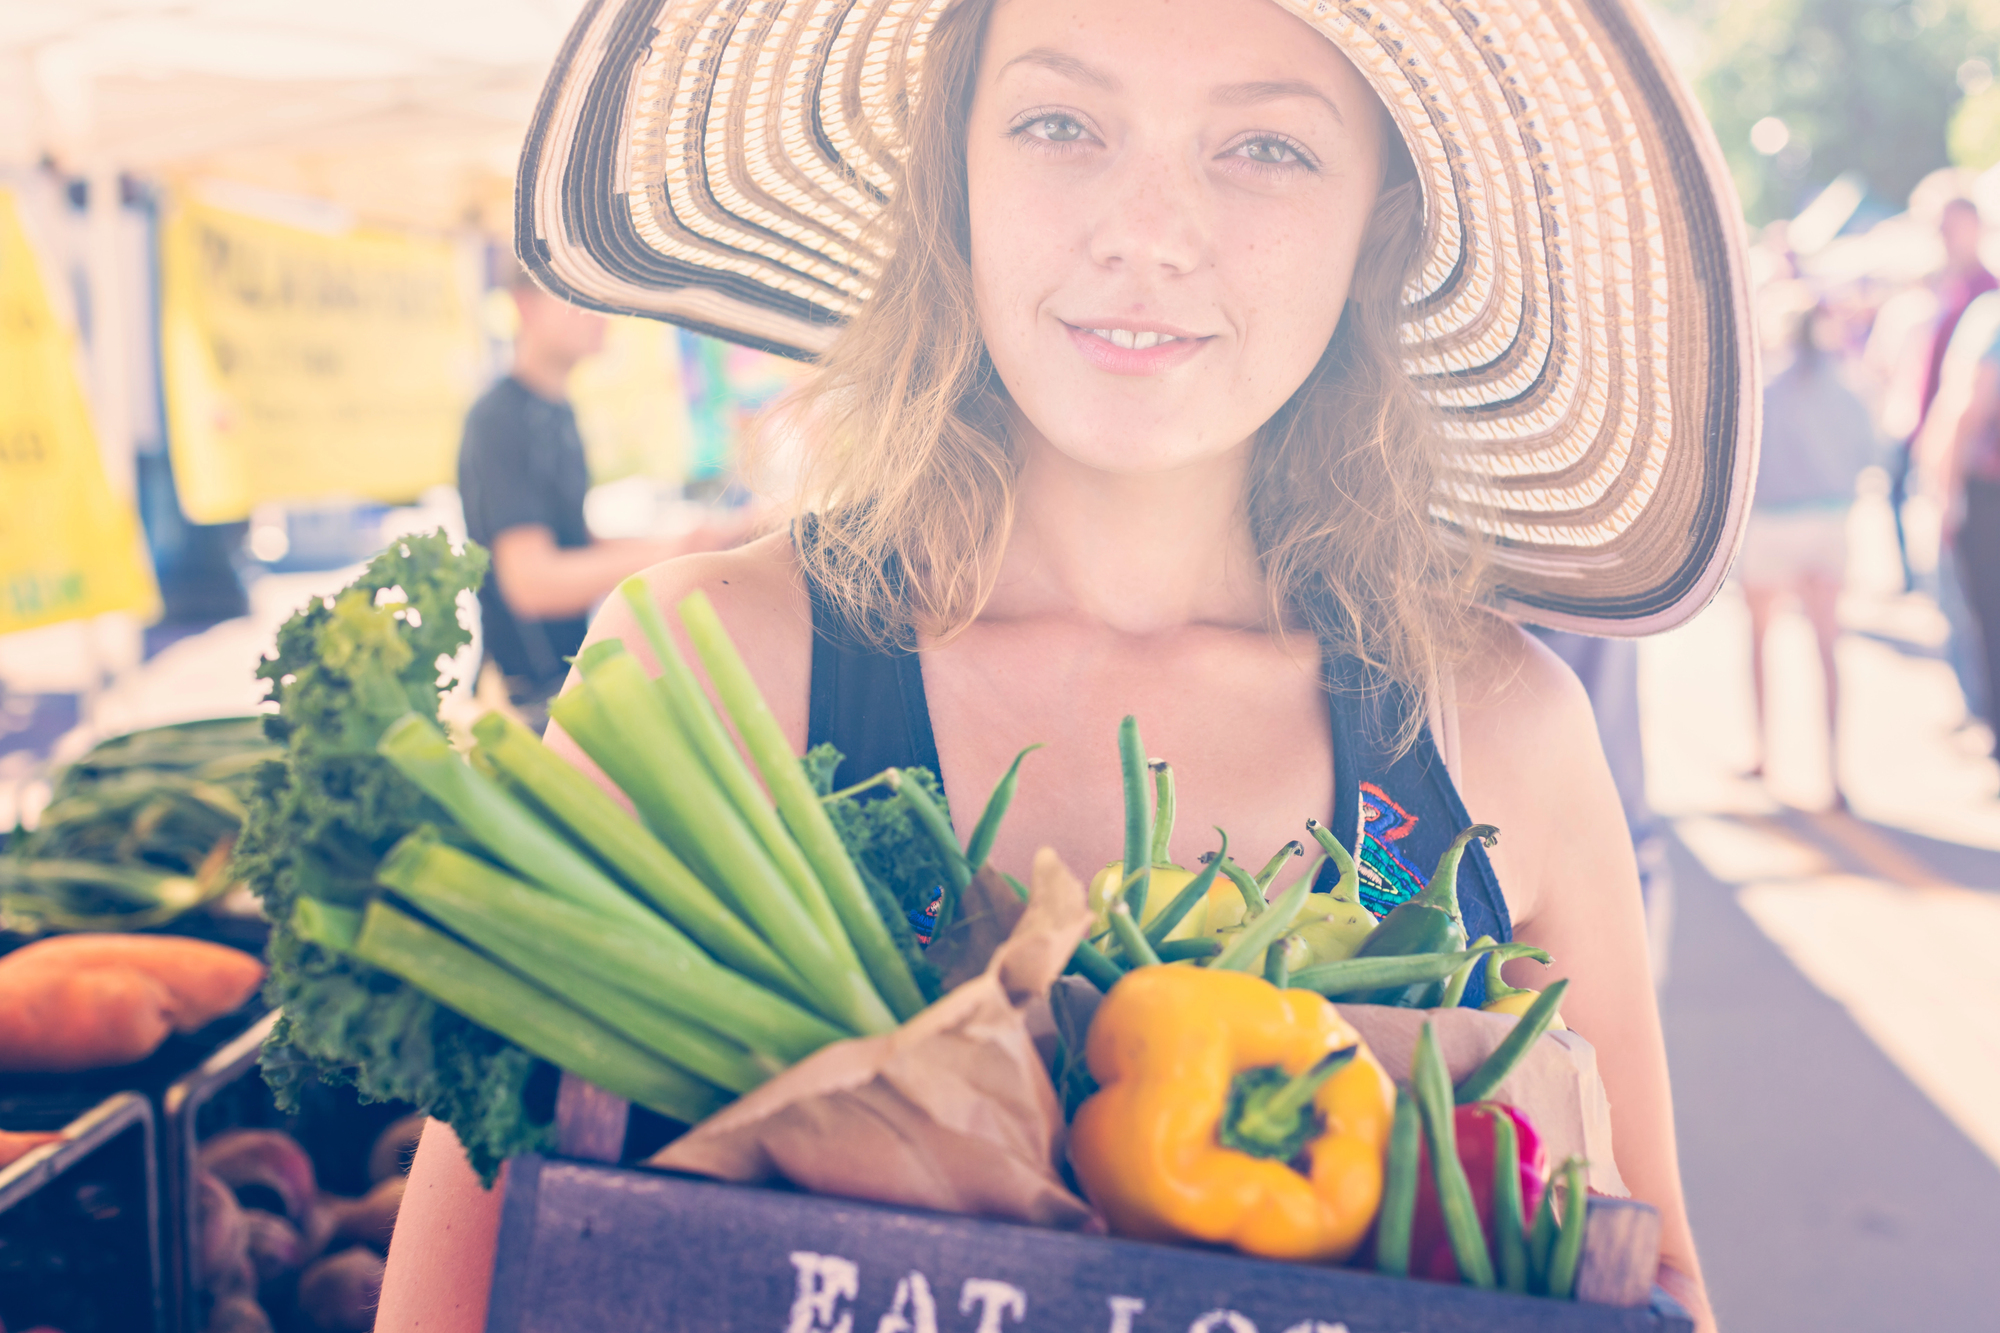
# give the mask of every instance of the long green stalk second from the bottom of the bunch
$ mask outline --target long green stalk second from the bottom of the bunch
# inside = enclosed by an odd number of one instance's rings
[[[376,875],[510,965],[552,983],[544,967],[574,969],[574,959],[590,959],[602,985],[776,1061],[800,1061],[848,1035],[718,967],[686,941],[640,939],[622,923],[532,889],[434,835],[412,833],[400,841]],[[464,917],[478,921],[462,927]],[[514,943],[502,945],[502,933]],[[526,953],[516,959],[504,949]]]

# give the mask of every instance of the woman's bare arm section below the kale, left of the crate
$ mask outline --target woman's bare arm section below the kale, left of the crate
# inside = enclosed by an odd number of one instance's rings
[[[376,1333],[482,1333],[494,1279],[500,1199],[466,1165],[466,1149],[444,1121],[428,1121],[410,1163],[410,1187],[382,1275]]]

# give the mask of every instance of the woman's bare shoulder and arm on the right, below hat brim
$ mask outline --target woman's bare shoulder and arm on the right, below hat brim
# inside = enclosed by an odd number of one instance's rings
[[[1460,685],[1462,795],[1474,819],[1500,829],[1494,869],[1514,937],[1556,961],[1520,961],[1508,975],[1538,989],[1570,979],[1562,1015],[1596,1047],[1618,1171],[1636,1199],[1660,1209],[1660,1281],[1710,1331],[1638,865],[1590,699],[1554,652],[1512,624],[1496,624],[1488,648],[1482,679]]]

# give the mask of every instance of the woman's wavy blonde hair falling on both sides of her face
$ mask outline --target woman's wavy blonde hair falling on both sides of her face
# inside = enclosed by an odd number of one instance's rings
[[[966,132],[986,16],[934,28],[880,222],[874,294],[820,356],[786,418],[810,422],[798,474],[806,576],[880,646],[948,638],[992,592],[1014,518],[1008,398],[972,296]],[[1398,308],[1422,200],[1400,136],[1340,324],[1252,444],[1244,494],[1276,632],[1312,632],[1426,697],[1472,644],[1480,550],[1432,520],[1440,434],[1402,366]],[[1400,176],[1400,178],[1398,178]],[[1410,711],[1404,743],[1422,725]]]

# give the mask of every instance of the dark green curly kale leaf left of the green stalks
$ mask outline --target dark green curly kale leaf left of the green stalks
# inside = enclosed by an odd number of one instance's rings
[[[234,869],[272,921],[264,993],[284,1019],[262,1065],[280,1105],[294,1105],[310,1077],[352,1083],[368,1101],[410,1101],[452,1125],[490,1181],[506,1157],[554,1141],[550,1117],[530,1111],[534,1057],[290,931],[300,895],[360,907],[398,839],[448,823],[376,743],[412,709],[438,717],[448,660],[470,638],[460,604],[484,574],[478,546],[454,550],[444,532],[408,536],[284,624],[276,656],[258,669],[278,705],[264,731],[284,759],[258,773]]]

